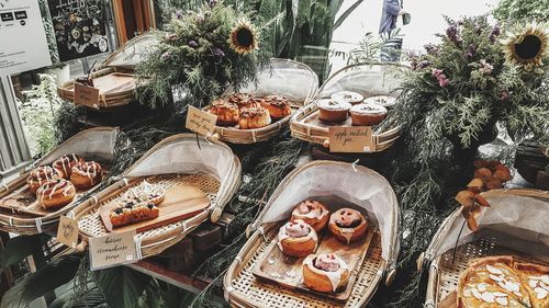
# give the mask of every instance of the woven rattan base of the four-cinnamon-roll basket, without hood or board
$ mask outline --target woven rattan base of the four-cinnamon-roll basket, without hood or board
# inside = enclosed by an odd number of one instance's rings
[[[379,233],[373,236],[365,261],[358,270],[349,299],[341,304],[272,283],[262,283],[254,276],[253,269],[267,252],[280,226],[271,224],[264,235],[255,233],[238,254],[239,264],[228,269],[225,276],[225,299],[233,307],[362,307],[370,300],[382,278],[380,273],[386,266],[381,259]]]

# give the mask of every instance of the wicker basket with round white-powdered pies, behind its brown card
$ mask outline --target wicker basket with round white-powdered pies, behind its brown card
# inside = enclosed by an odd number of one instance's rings
[[[292,117],[295,138],[329,148],[329,127],[370,126],[369,152],[390,148],[400,137],[392,110],[397,103],[399,79],[394,65],[358,64],[343,68],[320,88],[310,104]]]

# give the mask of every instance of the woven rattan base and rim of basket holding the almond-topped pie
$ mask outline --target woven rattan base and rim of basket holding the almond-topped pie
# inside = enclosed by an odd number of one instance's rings
[[[547,192],[535,191],[535,190],[509,190],[509,191],[491,191],[484,193],[486,196],[497,196],[504,197],[508,196],[526,196],[533,197],[540,201],[546,201],[549,204],[549,194]],[[526,204],[519,204],[519,206],[527,206]],[[490,210],[490,209],[486,209]],[[423,263],[428,261],[429,258],[433,258],[434,247],[437,243],[444,241],[452,241],[456,239],[449,239],[448,233],[450,226],[453,221],[461,217],[461,208],[456,209],[450,216],[446,218],[442,223],[441,227],[438,229],[435,238],[433,239],[432,246],[419,256],[418,266],[423,267]],[[519,239],[514,239],[515,241],[520,241]],[[428,285],[427,285],[427,295],[425,298],[426,308],[436,308],[438,305],[452,292],[457,289],[457,285],[459,282],[460,274],[467,270],[470,261],[483,258],[483,256],[493,256],[493,255],[513,255],[513,258],[526,261],[529,263],[538,263],[542,265],[545,264],[540,260],[537,260],[535,256],[527,255],[524,252],[518,252],[501,244],[501,240],[498,240],[497,233],[479,233],[474,241],[466,242],[463,244],[458,246],[455,249],[450,249],[445,253],[440,254],[438,258],[434,258],[430,262],[430,266],[428,270]],[[536,253],[535,249],[531,251]]]

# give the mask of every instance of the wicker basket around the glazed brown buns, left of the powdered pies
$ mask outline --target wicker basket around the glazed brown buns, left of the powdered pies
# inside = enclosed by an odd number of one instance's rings
[[[289,59],[271,59],[270,68],[258,76],[257,87],[250,83],[240,92],[257,96],[280,94],[287,96],[295,110],[307,104],[318,89],[318,77],[306,65]],[[232,94],[227,90],[224,95]],[[216,126],[214,139],[221,139],[232,144],[255,144],[272,138],[282,127],[288,125],[292,115],[279,119],[271,125],[257,129],[237,129],[233,127]]]

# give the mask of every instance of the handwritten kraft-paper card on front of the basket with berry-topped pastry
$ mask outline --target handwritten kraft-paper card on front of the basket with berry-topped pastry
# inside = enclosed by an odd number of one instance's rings
[[[134,236],[135,230],[90,238],[91,270],[96,271],[136,262],[137,250]]]

